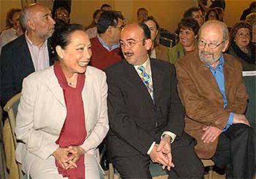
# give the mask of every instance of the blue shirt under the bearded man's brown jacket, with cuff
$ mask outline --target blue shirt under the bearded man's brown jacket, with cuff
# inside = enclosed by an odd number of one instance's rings
[[[213,67],[207,66],[210,70],[211,73],[213,73],[213,77],[215,77],[215,80],[218,84],[218,87],[220,88],[220,92],[223,98],[223,108],[225,108],[228,105],[228,99],[226,97],[226,92],[225,92],[225,83],[224,83],[224,72],[223,72],[223,67],[224,67],[224,58],[223,55],[221,55],[219,64],[217,65],[216,69],[213,69]],[[223,129],[223,131],[228,130],[228,128],[232,125],[234,119],[234,113],[231,112],[229,114],[228,118],[228,123],[226,127]]]

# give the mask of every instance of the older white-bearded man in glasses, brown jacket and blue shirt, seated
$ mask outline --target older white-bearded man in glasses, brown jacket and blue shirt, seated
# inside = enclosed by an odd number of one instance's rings
[[[247,92],[242,65],[228,48],[228,28],[211,20],[198,33],[198,51],[176,63],[178,90],[186,109],[185,131],[197,140],[195,151],[229,169],[228,178],[255,175],[255,136],[244,112]]]

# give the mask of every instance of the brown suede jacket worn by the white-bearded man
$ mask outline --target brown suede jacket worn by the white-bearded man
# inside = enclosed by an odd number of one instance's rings
[[[209,159],[215,154],[218,139],[203,143],[203,128],[210,125],[221,130],[228,123],[229,113],[243,114],[247,106],[247,92],[242,82],[242,65],[233,56],[223,54],[224,83],[228,106],[223,109],[223,97],[210,69],[199,59],[198,51],[184,56],[175,64],[178,90],[185,106],[185,131],[197,139],[198,157]]]

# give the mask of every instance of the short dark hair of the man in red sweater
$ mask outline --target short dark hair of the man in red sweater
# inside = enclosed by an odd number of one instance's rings
[[[97,23],[98,33],[105,33],[109,26],[116,27],[118,19],[124,20],[124,16],[116,10],[104,11]]]

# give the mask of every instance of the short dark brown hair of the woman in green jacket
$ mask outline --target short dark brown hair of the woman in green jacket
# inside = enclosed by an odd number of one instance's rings
[[[184,27],[190,28],[192,31],[194,31],[195,36],[198,34],[198,31],[200,28],[197,20],[193,18],[184,18],[184,19],[181,19],[181,22],[179,22],[176,33],[179,34],[179,32],[181,31],[181,28],[184,28]]]

